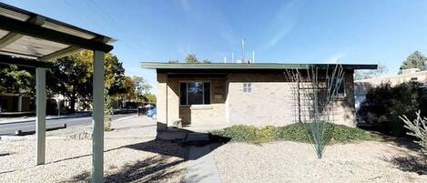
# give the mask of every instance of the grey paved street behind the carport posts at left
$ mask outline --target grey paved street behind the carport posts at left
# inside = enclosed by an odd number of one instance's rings
[[[131,114],[117,114],[112,118],[116,120],[122,117],[134,116],[136,113]],[[46,128],[56,128],[56,127],[73,127],[81,125],[89,125],[92,123],[92,117],[73,117],[73,118],[62,118],[62,119],[48,119],[46,120]],[[15,131],[22,130],[23,132],[35,131],[36,130],[36,121],[28,121],[23,123],[15,124],[0,124],[0,136],[2,135],[14,135]]]

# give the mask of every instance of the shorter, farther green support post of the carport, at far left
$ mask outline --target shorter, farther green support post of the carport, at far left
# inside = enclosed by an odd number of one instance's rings
[[[46,68],[36,68],[36,165],[46,157]]]

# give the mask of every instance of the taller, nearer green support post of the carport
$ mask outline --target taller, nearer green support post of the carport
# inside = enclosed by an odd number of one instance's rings
[[[92,182],[104,182],[104,55],[94,51]]]

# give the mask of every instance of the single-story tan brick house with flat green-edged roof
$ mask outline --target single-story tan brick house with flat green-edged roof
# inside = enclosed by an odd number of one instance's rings
[[[285,126],[299,121],[299,104],[292,94],[287,69],[329,65],[312,64],[183,64],[142,63],[156,69],[158,130],[181,121],[189,127],[231,125]],[[335,66],[335,65],[334,65]],[[342,65],[344,84],[334,101],[334,122],[355,126],[353,73],[376,65]]]

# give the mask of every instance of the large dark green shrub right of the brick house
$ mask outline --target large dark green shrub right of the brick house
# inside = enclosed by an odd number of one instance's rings
[[[413,118],[418,108],[422,108],[422,114],[427,112],[427,95],[421,86],[420,83],[409,82],[398,86],[386,83],[371,88],[361,103],[358,115],[378,131],[402,137],[407,130],[399,117]]]

